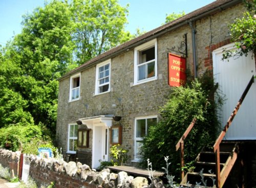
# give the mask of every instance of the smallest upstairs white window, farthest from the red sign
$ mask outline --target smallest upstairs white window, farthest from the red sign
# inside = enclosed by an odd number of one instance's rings
[[[80,99],[80,73],[70,78],[70,101]]]

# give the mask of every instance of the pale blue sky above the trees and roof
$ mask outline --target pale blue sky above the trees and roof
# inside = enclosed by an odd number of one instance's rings
[[[0,45],[20,33],[22,15],[32,13],[36,7],[44,6],[45,0],[0,0]],[[129,6],[129,23],[126,30],[135,33],[136,28],[153,30],[164,22],[166,14],[185,11],[189,13],[214,0],[119,0],[120,5]]]

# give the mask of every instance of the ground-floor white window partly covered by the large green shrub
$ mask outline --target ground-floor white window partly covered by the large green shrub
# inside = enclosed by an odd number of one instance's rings
[[[134,146],[134,160],[140,160],[140,148],[142,146],[142,140],[147,135],[147,132],[151,126],[156,125],[157,115],[136,117],[135,118],[135,146]]]

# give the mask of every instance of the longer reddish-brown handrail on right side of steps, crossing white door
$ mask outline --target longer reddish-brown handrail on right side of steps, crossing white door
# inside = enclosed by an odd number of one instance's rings
[[[245,99],[245,96],[247,94],[247,92],[249,91],[252,83],[254,82],[254,75],[252,75],[248,85],[246,86],[240,100],[238,101],[238,104],[237,106],[234,108],[233,112],[231,113],[224,129],[221,131],[219,137],[216,139],[216,142],[214,144],[214,152],[215,152],[215,156],[216,156],[216,178],[217,178],[217,187],[222,187],[222,184],[224,182],[221,183],[221,177],[220,177],[220,144],[221,144],[221,141],[222,139],[224,138],[228,128],[230,127],[233,119],[234,119],[234,116],[237,114],[242,102],[244,101]]]

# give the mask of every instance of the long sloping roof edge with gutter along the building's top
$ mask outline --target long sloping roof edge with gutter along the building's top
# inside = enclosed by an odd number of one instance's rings
[[[107,59],[110,59],[112,57],[117,56],[118,54],[121,54],[125,51],[129,51],[130,49],[134,48],[137,45],[140,45],[144,42],[150,41],[152,39],[157,38],[160,35],[163,35],[165,33],[168,33],[172,30],[175,30],[177,28],[180,28],[184,25],[187,25],[189,22],[196,21],[198,19],[201,19],[204,16],[210,15],[212,13],[220,12],[222,10],[225,10],[227,8],[230,8],[231,6],[237,5],[241,3],[242,0],[217,0],[215,2],[212,2],[204,7],[201,7],[193,12],[190,12],[174,21],[168,22],[163,26],[160,26],[156,29],[153,29],[147,33],[144,33],[141,36],[138,36],[132,40],[129,40],[125,43],[122,43],[109,51],[106,51],[95,58],[81,64],[77,68],[71,70],[69,73],[63,75],[58,80],[63,80],[70,75],[76,74],[78,72],[81,72],[83,69],[90,68],[91,66],[94,66],[95,64],[99,62],[103,62]]]

